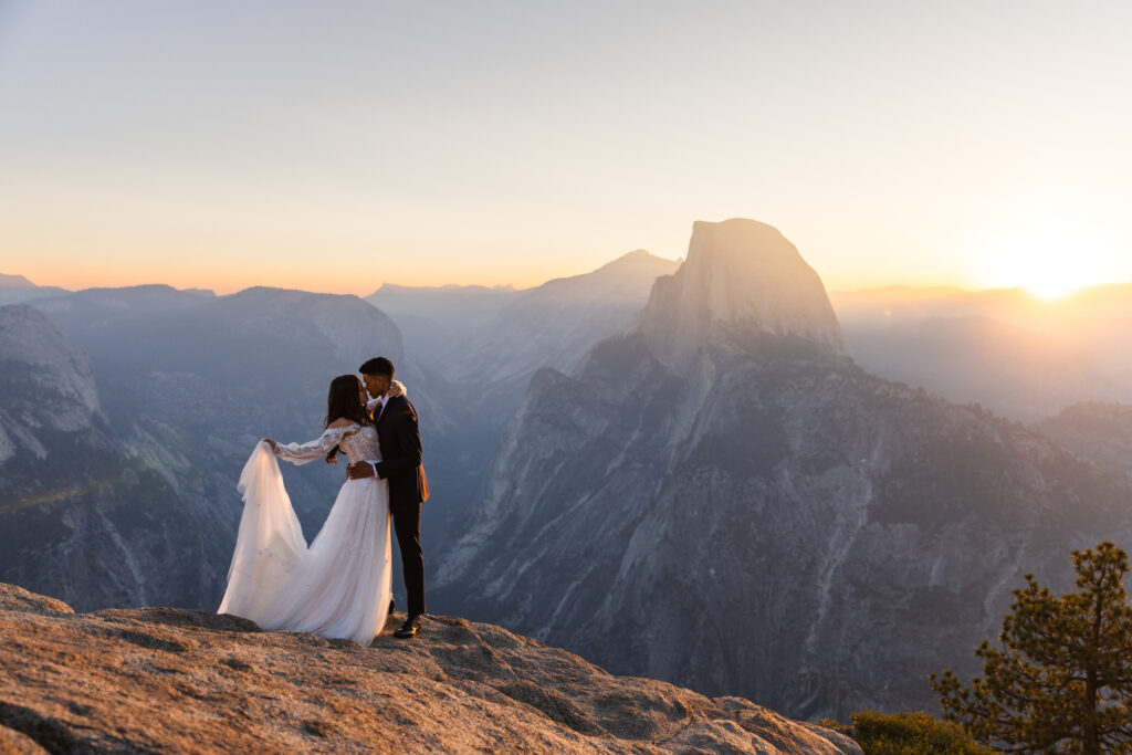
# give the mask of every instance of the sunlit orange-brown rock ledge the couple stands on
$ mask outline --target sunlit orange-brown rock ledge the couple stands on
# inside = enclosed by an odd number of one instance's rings
[[[5,753],[860,753],[746,700],[455,618],[361,647],[205,611],[76,615],[0,584],[0,634]]]

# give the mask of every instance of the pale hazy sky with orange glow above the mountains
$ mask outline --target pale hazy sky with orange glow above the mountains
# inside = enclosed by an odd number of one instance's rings
[[[752,217],[831,289],[1126,282],[1129,28],[1088,0],[0,0],[0,273],[528,286]]]

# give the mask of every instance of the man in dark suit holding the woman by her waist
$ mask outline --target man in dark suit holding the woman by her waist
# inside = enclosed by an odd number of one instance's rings
[[[405,396],[389,396],[393,362],[385,357],[370,359],[358,368],[371,400],[366,409],[374,414],[381,461],[351,464],[351,480],[374,477],[389,481],[389,513],[397,533],[401,565],[409,593],[409,618],[393,634],[414,637],[424,616],[424,555],[421,552],[421,504],[428,500],[428,479],[421,466],[421,435],[417,410]]]

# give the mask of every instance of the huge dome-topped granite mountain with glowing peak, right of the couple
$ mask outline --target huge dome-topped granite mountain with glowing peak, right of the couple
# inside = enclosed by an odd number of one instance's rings
[[[640,329],[535,376],[435,601],[791,715],[933,706],[1024,573],[1067,586],[1071,548],[1129,544],[1132,489],[863,371],[767,228],[694,237]],[[758,309],[764,273],[791,293]]]

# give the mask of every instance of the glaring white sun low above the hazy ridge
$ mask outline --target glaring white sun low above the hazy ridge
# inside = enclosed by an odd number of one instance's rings
[[[987,288],[1022,288],[1054,300],[1112,281],[1117,259],[1095,228],[1043,217],[988,238],[979,263]]]

